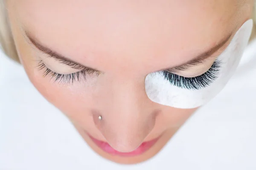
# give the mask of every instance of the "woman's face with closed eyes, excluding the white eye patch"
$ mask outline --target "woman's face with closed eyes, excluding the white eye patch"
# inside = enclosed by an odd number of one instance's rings
[[[196,110],[152,102],[145,77],[226,40],[204,64],[175,73],[203,74],[252,6],[253,0],[7,1],[31,82],[93,150],[125,164],[154,156]]]

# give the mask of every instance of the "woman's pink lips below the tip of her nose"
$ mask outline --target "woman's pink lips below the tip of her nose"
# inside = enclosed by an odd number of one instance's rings
[[[136,150],[132,151],[132,152],[119,152],[115,149],[113,149],[113,147],[111,147],[107,142],[103,142],[100,141],[98,139],[93,138],[92,136],[90,136],[88,134],[88,136],[92,139],[92,141],[98,146],[100,147],[102,150],[104,150],[107,153],[110,153],[112,155],[117,155],[117,156],[138,156],[143,154],[145,151],[147,151],[149,148],[151,148],[159,139],[159,137],[157,139],[153,139],[151,141],[148,142],[143,142]]]

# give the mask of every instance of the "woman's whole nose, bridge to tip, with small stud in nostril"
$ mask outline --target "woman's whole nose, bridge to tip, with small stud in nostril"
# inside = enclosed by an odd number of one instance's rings
[[[154,128],[158,111],[145,93],[144,81],[141,85],[112,82],[105,88],[98,98],[99,108],[92,113],[94,123],[113,149],[131,152]]]

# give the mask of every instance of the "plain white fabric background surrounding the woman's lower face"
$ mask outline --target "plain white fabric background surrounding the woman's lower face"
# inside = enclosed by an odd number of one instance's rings
[[[0,170],[256,170],[256,41],[218,96],[153,159],[120,165],[94,153],[67,118],[0,54]]]

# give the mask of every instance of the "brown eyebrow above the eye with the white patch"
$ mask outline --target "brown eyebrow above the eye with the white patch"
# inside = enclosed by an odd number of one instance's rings
[[[210,57],[214,57],[214,56],[212,56],[212,54],[214,54],[215,52],[220,50],[230,40],[230,37],[232,35],[233,35],[233,31],[230,34],[228,34],[227,37],[224,37],[224,39],[221,40],[220,43],[218,43],[214,47],[210,48],[209,50],[203,52],[202,54],[198,55],[194,59],[191,59],[188,62],[183,63],[178,66],[175,66],[173,68],[168,68],[168,69],[166,69],[166,71],[170,71],[170,72],[184,71],[186,69],[191,68],[192,66],[203,63],[206,59],[208,59]]]

